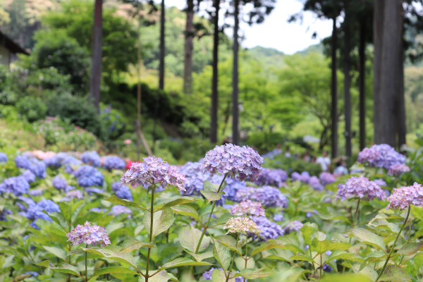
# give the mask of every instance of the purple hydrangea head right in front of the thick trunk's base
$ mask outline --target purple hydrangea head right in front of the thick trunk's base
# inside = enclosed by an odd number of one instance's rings
[[[368,163],[369,166],[389,169],[394,164],[405,164],[405,157],[396,152],[393,147],[381,144],[364,148],[358,154],[357,161],[362,164]]]

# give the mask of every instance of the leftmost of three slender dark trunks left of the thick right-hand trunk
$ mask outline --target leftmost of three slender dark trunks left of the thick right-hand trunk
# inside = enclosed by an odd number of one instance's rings
[[[338,157],[338,81],[336,77],[336,49],[338,43],[338,32],[336,30],[336,16],[333,16],[333,30],[332,30],[332,78],[331,78],[331,157]]]

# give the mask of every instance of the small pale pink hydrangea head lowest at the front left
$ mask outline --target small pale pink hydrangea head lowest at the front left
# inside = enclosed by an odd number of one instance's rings
[[[82,226],[78,224],[73,231],[67,233],[66,236],[72,245],[78,245],[81,243],[97,245],[100,243],[101,247],[106,247],[110,245],[109,236],[107,235],[104,227],[102,226],[92,226],[90,222],[85,222]]]

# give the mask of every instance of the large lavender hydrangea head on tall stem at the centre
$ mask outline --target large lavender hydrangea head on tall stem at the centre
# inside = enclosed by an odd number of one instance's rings
[[[209,173],[232,173],[239,180],[257,180],[262,174],[263,158],[250,147],[226,144],[206,153],[204,168]]]

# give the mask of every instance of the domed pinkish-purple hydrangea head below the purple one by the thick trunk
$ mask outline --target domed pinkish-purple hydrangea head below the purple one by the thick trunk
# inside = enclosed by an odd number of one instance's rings
[[[369,200],[373,200],[374,198],[384,200],[386,194],[374,181],[369,181],[369,178],[352,176],[347,180],[345,185],[341,185],[336,193],[336,198],[341,199],[341,201],[350,197],[360,197],[360,199],[367,197]]]

